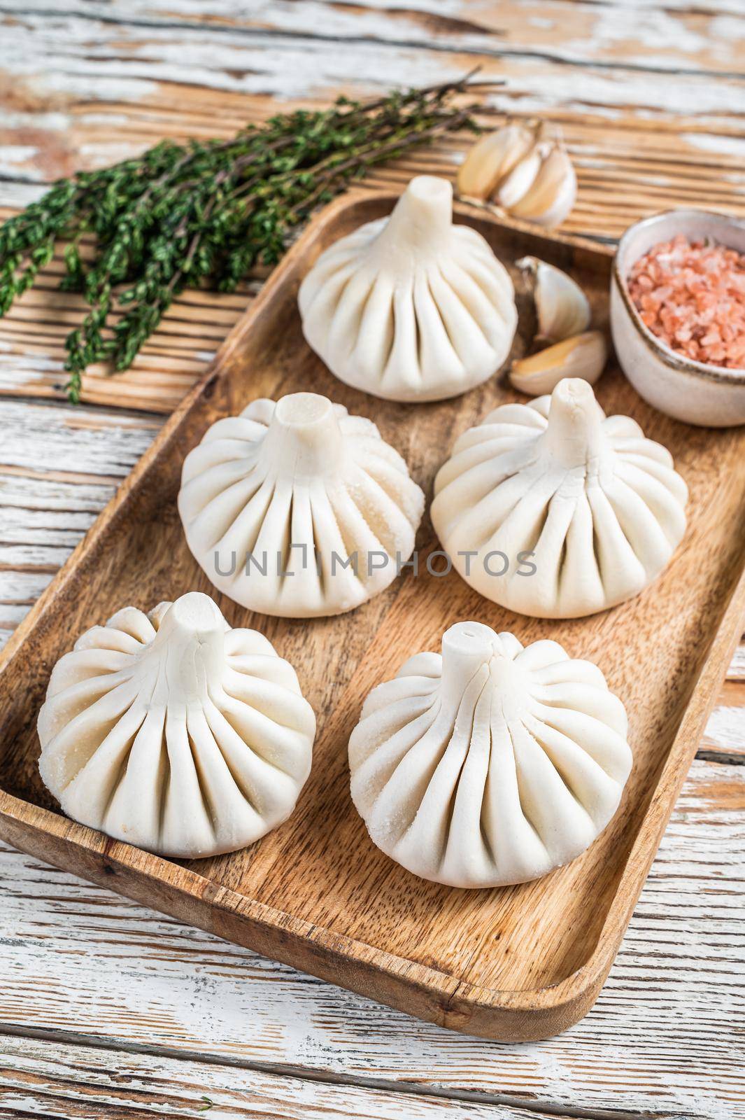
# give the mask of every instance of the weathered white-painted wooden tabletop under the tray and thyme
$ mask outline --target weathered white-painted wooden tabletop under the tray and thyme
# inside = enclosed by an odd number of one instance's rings
[[[481,63],[563,124],[567,228],[745,216],[744,0],[0,0],[0,216],[163,136],[229,134]],[[379,170],[452,174],[460,142]],[[0,631],[40,594],[256,290],[187,295],[134,367],[59,391],[79,304],[0,321]],[[587,1018],[500,1045],[418,1023],[0,848],[0,1116],[745,1117],[745,647]]]

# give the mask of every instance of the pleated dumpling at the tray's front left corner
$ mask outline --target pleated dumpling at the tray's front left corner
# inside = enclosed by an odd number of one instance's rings
[[[315,717],[271,642],[192,591],[83,634],[53,670],[38,731],[41,777],[68,816],[197,858],[290,815]]]

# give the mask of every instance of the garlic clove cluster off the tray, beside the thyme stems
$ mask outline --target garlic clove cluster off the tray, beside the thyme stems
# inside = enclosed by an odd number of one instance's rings
[[[506,124],[473,146],[458,189],[462,197],[497,203],[513,217],[554,226],[574,207],[577,177],[558,129]]]

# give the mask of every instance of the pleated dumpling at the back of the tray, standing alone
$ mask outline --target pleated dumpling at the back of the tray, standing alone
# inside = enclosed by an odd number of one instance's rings
[[[517,327],[509,273],[446,179],[412,179],[388,218],[321,254],[300,288],[305,338],[341,381],[390,401],[438,401],[491,377]]]

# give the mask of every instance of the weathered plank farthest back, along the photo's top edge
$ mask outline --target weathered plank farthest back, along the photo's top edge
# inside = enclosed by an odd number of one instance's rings
[[[386,0],[360,0],[348,6],[324,0],[235,0],[214,3],[209,13],[198,0],[153,4],[147,0],[124,3],[51,0],[44,6],[27,0],[4,0],[3,9],[29,16],[35,8],[45,15],[105,20],[119,27],[209,31],[215,38],[229,36],[239,43],[252,32],[284,38],[305,36],[331,40],[367,40],[380,46],[436,47],[443,53],[472,52],[509,57],[537,56],[565,64],[591,63],[609,68],[635,67],[680,73],[739,73],[738,45],[745,38],[742,6],[728,11],[704,6],[680,7],[639,3],[633,21],[629,4],[570,3],[567,0],[513,0],[510,4],[465,0],[425,0],[390,4]],[[718,13],[728,15],[713,27]],[[83,29],[82,32],[83,34]],[[722,40],[722,41],[719,41]]]

